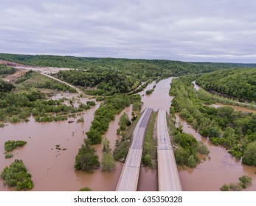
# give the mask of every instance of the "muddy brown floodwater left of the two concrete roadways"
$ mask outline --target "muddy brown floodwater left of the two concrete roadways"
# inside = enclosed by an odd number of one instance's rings
[[[80,98],[77,101],[75,94],[58,94],[53,99],[66,97],[73,99],[75,107],[78,102],[85,103],[88,98]],[[69,104],[66,102],[66,104]],[[122,171],[122,163],[117,163],[117,169],[111,173],[102,172],[100,169],[94,173],[88,174],[83,171],[75,171],[75,156],[86,131],[89,130],[91,121],[94,119],[94,111],[99,107],[99,103],[95,107],[91,107],[83,114],[84,123],[76,124],[77,118],[70,118],[75,122],[68,124],[67,121],[37,123],[34,118],[30,118],[27,123],[8,124],[4,128],[0,128],[0,171],[5,166],[9,166],[14,159],[21,159],[27,166],[32,180],[35,183],[32,191],[78,191],[80,188],[89,187],[93,191],[114,191]],[[131,118],[131,107],[126,107],[122,111],[128,113]],[[111,141],[111,147],[114,147],[117,138],[116,131],[118,119],[116,116],[111,121],[110,129],[106,132],[105,137]],[[4,142],[8,140],[24,140],[27,145],[21,149],[15,149],[12,153],[14,157],[4,159]],[[55,149],[55,145],[59,144],[61,149]],[[95,146],[98,153],[101,154],[101,147]],[[101,155],[100,155],[101,156]],[[0,191],[12,191],[13,188],[5,187],[0,180]]]

